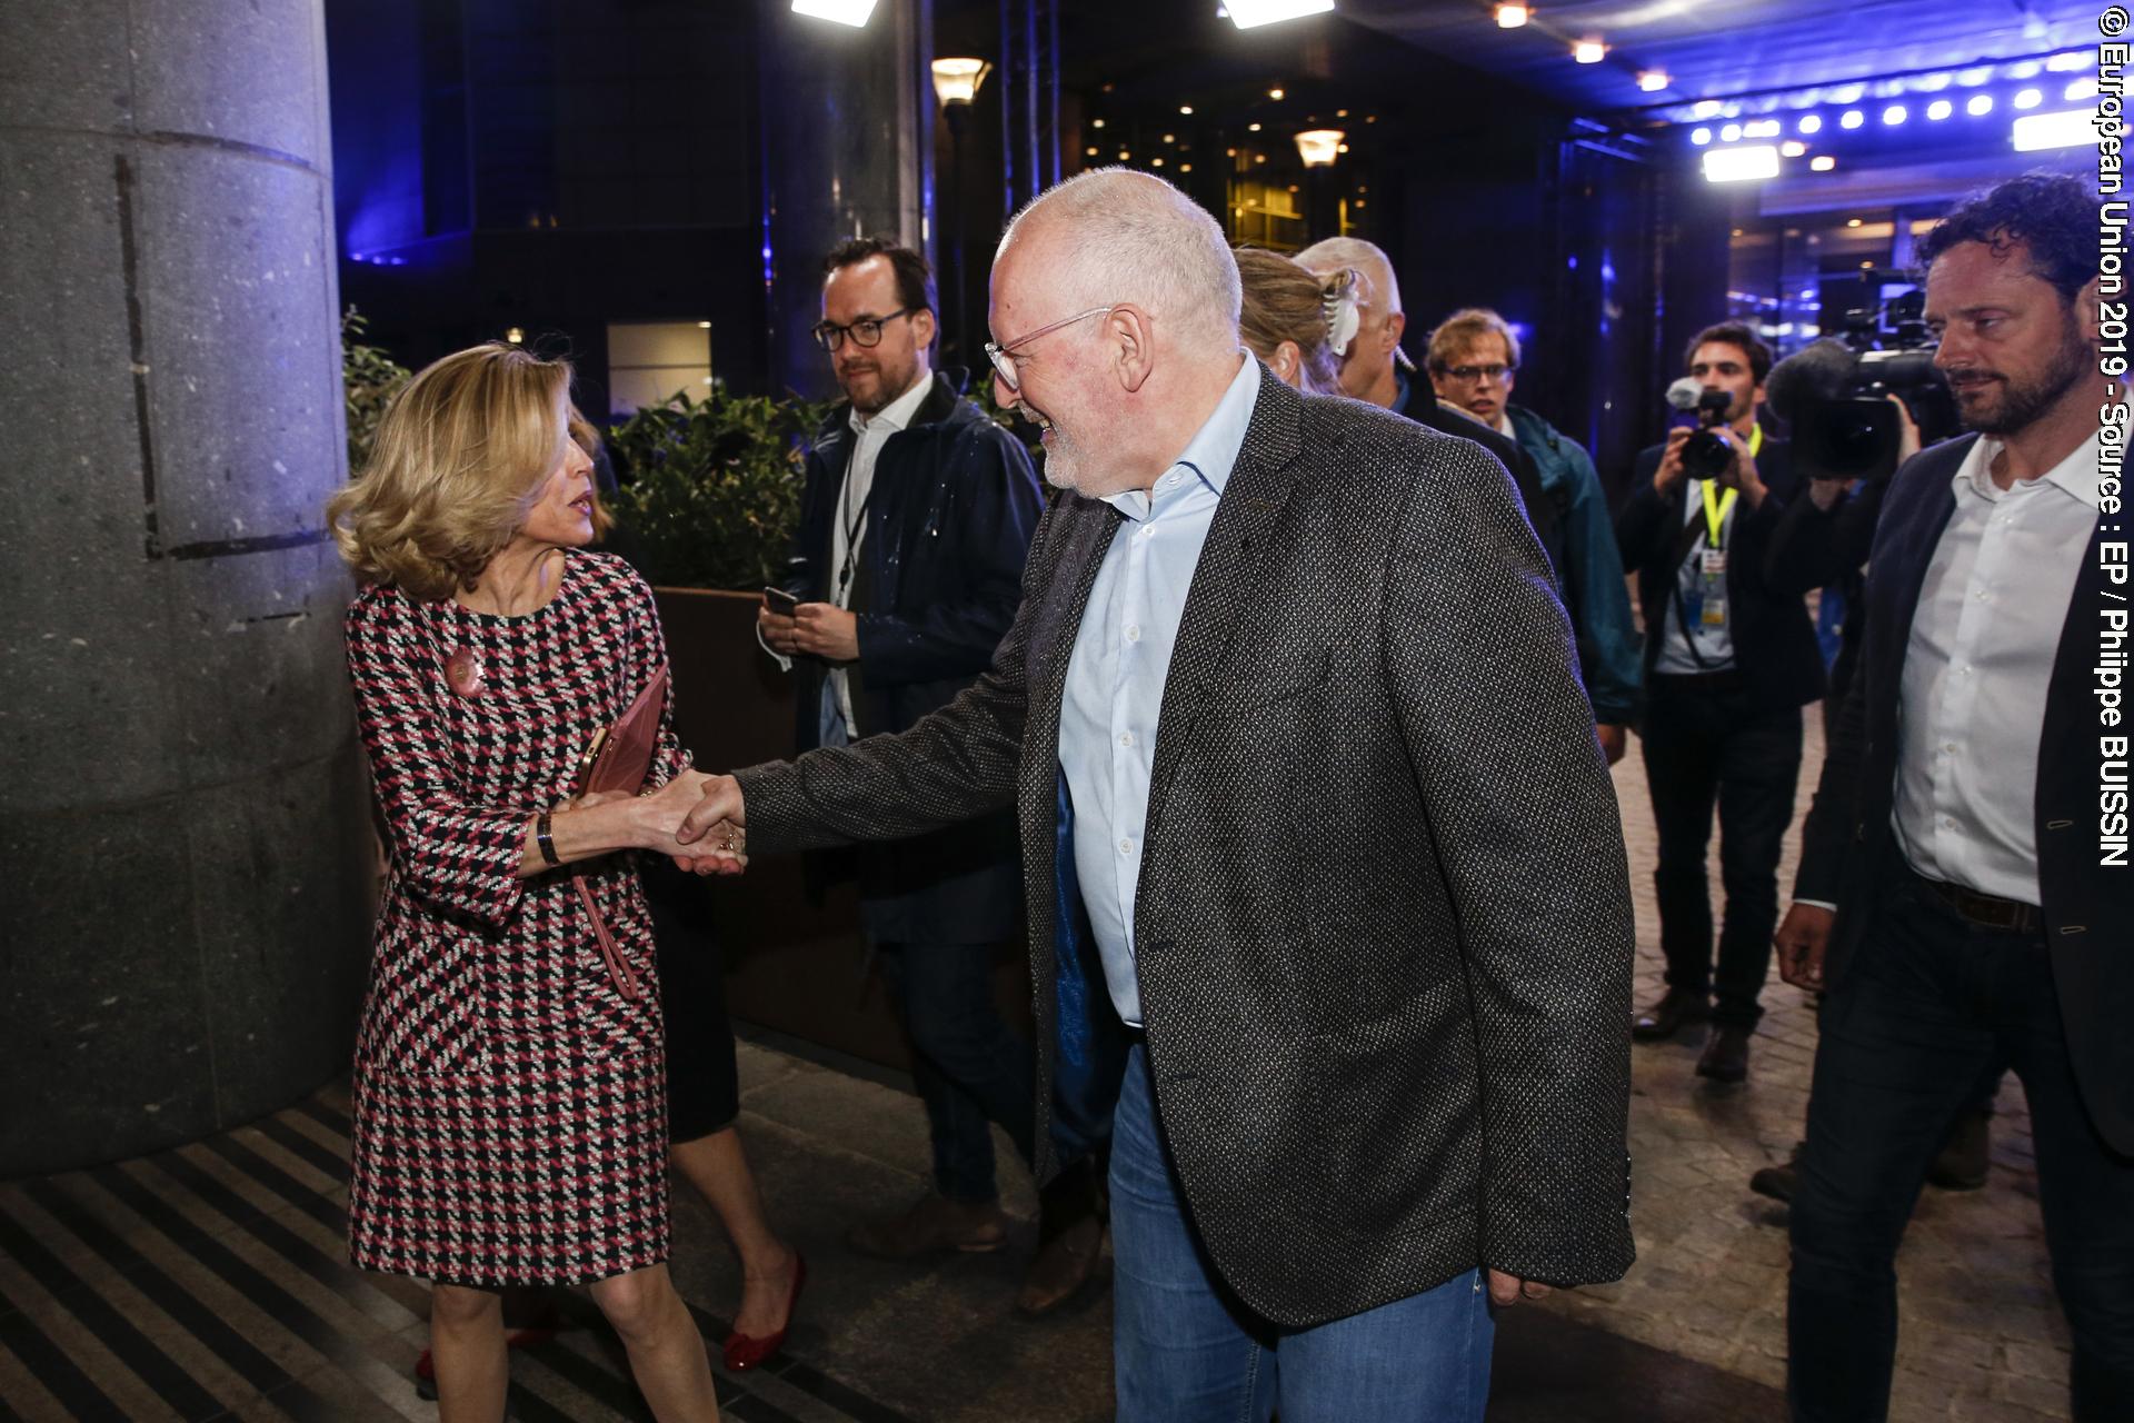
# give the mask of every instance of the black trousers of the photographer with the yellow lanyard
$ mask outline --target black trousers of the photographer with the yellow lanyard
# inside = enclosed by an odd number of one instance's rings
[[[1645,702],[1645,785],[1660,832],[1660,952],[1667,986],[1718,990],[1711,1020],[1754,1028],[1778,928],[1778,851],[1793,824],[1801,774],[1801,708],[1763,706],[1731,674],[1654,674]],[[1711,890],[1705,847],[1720,813],[1718,981],[1711,973]]]

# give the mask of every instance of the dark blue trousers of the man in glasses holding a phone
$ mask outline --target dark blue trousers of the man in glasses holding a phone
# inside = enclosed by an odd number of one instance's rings
[[[883,977],[911,1037],[911,1077],[926,1105],[935,1186],[952,1201],[990,1201],[999,1122],[1035,1156],[1037,1062],[992,1007],[992,947],[879,943]]]

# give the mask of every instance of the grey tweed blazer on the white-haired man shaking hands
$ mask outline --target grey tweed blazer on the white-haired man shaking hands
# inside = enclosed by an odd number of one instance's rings
[[[1061,693],[1118,523],[1061,499],[992,670],[909,732],[736,772],[755,853],[1016,806],[1041,1124]],[[1628,868],[1504,469],[1263,369],[1157,725],[1142,1016],[1223,1280],[1302,1327],[1477,1263],[1620,1278]]]

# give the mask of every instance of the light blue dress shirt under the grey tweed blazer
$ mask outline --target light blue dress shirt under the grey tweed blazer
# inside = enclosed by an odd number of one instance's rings
[[[1133,977],[1133,892],[1142,883],[1148,772],[1157,713],[1214,506],[1244,446],[1259,401],[1251,356],[1150,491],[1110,495],[1127,516],[1097,570],[1061,702],[1061,768],[1073,798],[1073,864],[1082,879],[1103,984],[1125,1022],[1142,1022]]]

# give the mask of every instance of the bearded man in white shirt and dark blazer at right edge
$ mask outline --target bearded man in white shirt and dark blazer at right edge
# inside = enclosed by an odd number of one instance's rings
[[[1786,981],[1829,990],[1790,1220],[1793,1410],[1889,1410],[1897,1244],[1950,1122],[2008,1065],[2074,1417],[2128,1419],[2134,879],[2100,817],[2115,732],[2091,672],[2125,619],[2102,450],[2123,448],[2128,405],[2100,373],[2096,196],[2012,179],[1921,260],[1936,365],[1976,433],[1914,457],[1882,506],[1861,670],[1778,930]]]

